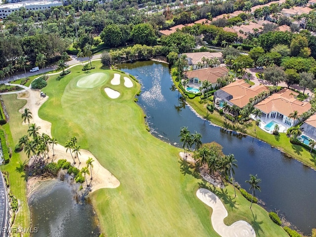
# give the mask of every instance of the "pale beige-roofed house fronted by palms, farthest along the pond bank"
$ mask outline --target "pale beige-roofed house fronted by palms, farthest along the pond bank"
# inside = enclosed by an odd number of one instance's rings
[[[221,52],[196,52],[184,54],[187,55],[188,66],[192,67],[193,70],[210,66],[218,67],[223,63],[223,55]]]

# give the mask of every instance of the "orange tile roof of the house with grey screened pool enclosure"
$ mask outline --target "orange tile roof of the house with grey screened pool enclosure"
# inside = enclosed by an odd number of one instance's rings
[[[249,99],[251,97],[255,97],[261,91],[268,90],[268,87],[265,85],[259,85],[254,88],[250,88],[248,83],[246,83],[243,79],[240,79],[224,86],[221,90],[233,96],[233,99],[231,99],[230,102],[237,105],[239,108],[243,108],[249,103]]]

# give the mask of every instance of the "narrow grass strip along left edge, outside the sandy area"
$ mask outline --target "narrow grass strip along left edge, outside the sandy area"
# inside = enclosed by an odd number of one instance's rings
[[[23,170],[21,170],[21,164],[25,160],[26,155],[23,152],[14,152],[18,139],[27,131],[27,126],[21,125],[21,114],[18,112],[18,109],[23,107],[26,101],[17,100],[16,94],[2,95],[2,99],[10,116],[10,122],[2,125],[2,128],[7,134],[7,143],[12,150],[10,162],[4,165],[2,169],[8,171],[10,191],[19,200],[19,210],[13,226],[28,228],[30,227],[30,211],[26,197],[26,177]],[[26,236],[29,236],[29,234]]]

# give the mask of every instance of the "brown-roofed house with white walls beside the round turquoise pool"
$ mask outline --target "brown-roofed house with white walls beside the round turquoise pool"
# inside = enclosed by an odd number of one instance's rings
[[[217,79],[228,75],[229,69],[226,67],[216,68],[203,68],[194,71],[185,72],[184,75],[189,79],[190,87],[199,88],[204,80],[211,83],[211,86],[215,88],[218,86]]]

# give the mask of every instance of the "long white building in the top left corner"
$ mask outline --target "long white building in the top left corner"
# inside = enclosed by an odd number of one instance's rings
[[[0,19],[6,18],[12,12],[19,11],[21,7],[29,10],[46,10],[53,6],[62,6],[63,3],[56,1],[23,1],[17,3],[8,3],[0,5]]]

